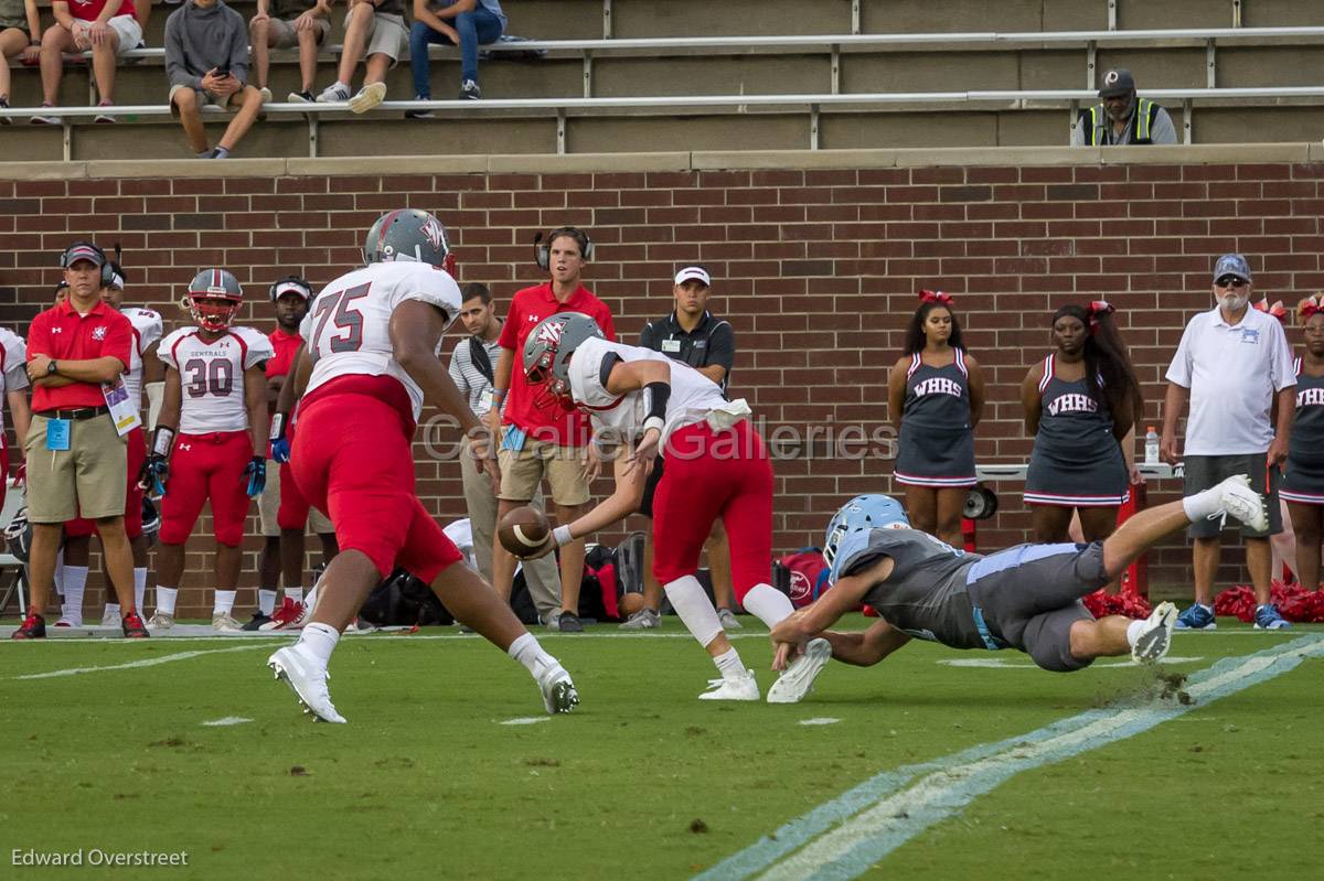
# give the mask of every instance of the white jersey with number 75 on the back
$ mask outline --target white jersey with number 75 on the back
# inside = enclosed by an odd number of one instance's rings
[[[306,393],[342,376],[389,376],[409,393],[413,418],[422,411],[422,389],[395,358],[391,315],[405,300],[440,308],[446,325],[459,315],[459,286],[445,270],[400,261],[369,263],[322,288],[299,325],[312,357]],[[437,344],[441,353],[441,343]]]

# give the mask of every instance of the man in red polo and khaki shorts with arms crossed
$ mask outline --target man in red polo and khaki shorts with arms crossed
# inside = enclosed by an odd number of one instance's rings
[[[32,429],[25,443],[32,603],[15,639],[46,635],[41,612],[54,579],[60,533],[79,511],[101,532],[124,636],[147,636],[134,603],[134,558],[124,534],[126,442],[102,390],[103,384],[118,382],[128,369],[134,331],[127,317],[101,299],[107,262],[105,251],[90,242],[70,245],[60,258],[69,298],[34,317],[28,331],[28,378],[33,386]],[[119,392],[127,398],[123,385]],[[132,427],[120,426],[126,434]]]

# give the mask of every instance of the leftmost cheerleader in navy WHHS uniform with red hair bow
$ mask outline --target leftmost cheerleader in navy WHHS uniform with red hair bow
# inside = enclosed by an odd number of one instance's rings
[[[974,426],[984,413],[984,373],[961,348],[952,298],[920,291],[906,331],[906,355],[887,378],[900,441],[896,482],[916,529],[961,545],[961,511],[974,485]]]

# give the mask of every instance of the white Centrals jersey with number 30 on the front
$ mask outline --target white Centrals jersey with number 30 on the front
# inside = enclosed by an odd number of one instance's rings
[[[208,343],[196,327],[184,327],[164,340],[158,357],[179,370],[183,405],[179,430],[183,434],[244,431],[244,372],[275,355],[265,333],[250,327],[232,327]]]

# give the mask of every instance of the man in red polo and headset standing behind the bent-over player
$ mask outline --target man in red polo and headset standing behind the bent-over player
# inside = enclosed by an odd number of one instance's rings
[[[539,265],[551,279],[515,294],[502,325],[500,358],[493,384],[493,409],[487,426],[502,438],[500,493],[498,521],[512,509],[527,505],[543,478],[551,485],[556,519],[568,524],[584,513],[589,499],[591,478],[584,475],[580,450],[592,437],[588,417],[577,410],[543,410],[534,405],[538,389],[528,385],[524,369],[515,370],[515,361],[524,351],[524,339],[543,319],[556,312],[583,312],[602,328],[606,339],[616,341],[612,311],[580,282],[592,247],[581,230],[573,226],[553,229],[545,251],[539,250]],[[584,540],[561,548],[561,612],[547,622],[551,630],[581,632],[579,589],[584,578]],[[500,541],[493,544],[493,586],[510,599],[515,579],[515,557]]]

